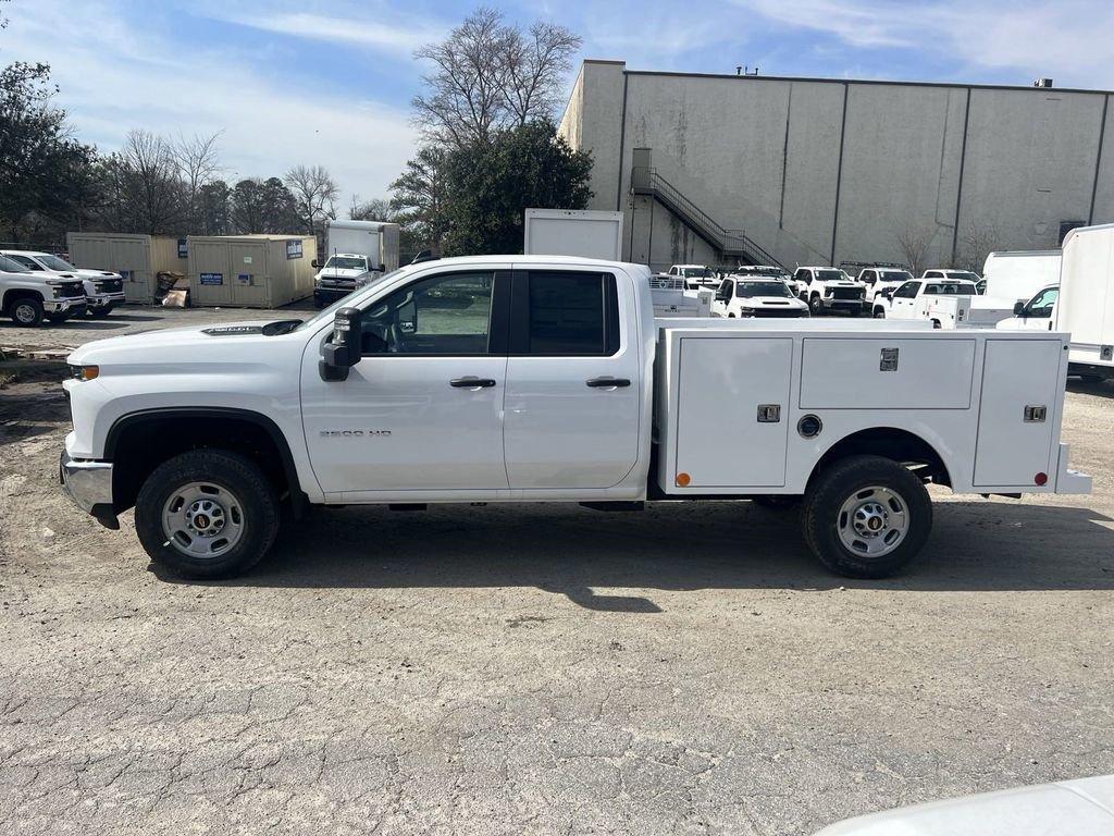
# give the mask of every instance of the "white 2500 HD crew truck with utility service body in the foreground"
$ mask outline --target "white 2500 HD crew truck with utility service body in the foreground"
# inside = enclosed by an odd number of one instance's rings
[[[1059,441],[1066,334],[655,319],[648,279],[447,259],[305,322],[86,343],[62,484],[109,527],[134,506],[147,553],[202,577],[263,557],[283,506],[709,499],[801,500],[825,566],[880,577],[925,545],[927,484],[1091,488]]]

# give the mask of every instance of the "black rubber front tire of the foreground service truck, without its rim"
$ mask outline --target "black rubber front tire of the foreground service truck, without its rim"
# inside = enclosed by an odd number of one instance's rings
[[[175,545],[163,512],[176,492],[193,483],[212,484],[235,499],[243,526],[231,550],[197,557]],[[229,507],[228,518],[234,509]],[[147,477],[136,498],[136,533],[158,565],[183,577],[233,577],[263,560],[278,533],[278,500],[272,484],[248,458],[225,450],[190,450],[164,461]]]

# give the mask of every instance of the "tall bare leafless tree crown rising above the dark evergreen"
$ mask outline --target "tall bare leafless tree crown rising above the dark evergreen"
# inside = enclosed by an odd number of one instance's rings
[[[505,26],[502,13],[480,8],[440,43],[419,49],[429,61],[427,91],[412,100],[428,143],[463,148],[500,128],[551,117],[580,38],[551,23],[528,32]]]

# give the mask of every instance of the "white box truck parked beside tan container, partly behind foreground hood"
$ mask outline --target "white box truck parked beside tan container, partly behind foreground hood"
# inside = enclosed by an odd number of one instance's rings
[[[313,266],[313,301],[332,304],[399,269],[399,225],[385,221],[326,221],[325,252]]]

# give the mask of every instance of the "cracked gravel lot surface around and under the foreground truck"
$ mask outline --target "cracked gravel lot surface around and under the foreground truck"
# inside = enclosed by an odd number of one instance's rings
[[[1069,389],[1094,495],[936,492],[892,581],[707,503],[320,509],[198,583],[61,496],[66,401],[25,375],[0,390],[0,830],[798,834],[1114,772],[1114,386]]]

